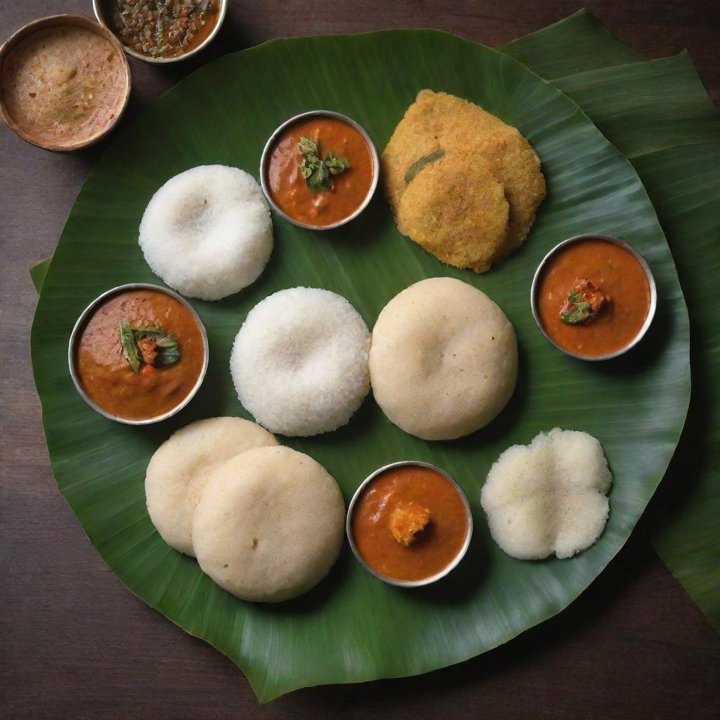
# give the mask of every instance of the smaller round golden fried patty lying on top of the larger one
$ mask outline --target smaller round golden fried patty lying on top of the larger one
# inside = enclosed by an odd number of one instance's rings
[[[446,154],[410,181],[397,228],[438,260],[485,272],[508,235],[508,201],[479,153]]]

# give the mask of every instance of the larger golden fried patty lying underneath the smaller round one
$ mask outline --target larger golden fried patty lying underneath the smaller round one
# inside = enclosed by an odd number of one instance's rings
[[[408,169],[418,158],[440,150],[444,156],[480,153],[503,186],[509,204],[508,232],[502,246],[488,258],[487,270],[493,261],[518,248],[528,235],[545,197],[540,160],[526,138],[495,115],[453,95],[421,90],[382,153],[384,192],[396,217],[400,198],[422,174],[418,172],[415,179],[406,181]],[[467,179],[472,181],[472,177]]]

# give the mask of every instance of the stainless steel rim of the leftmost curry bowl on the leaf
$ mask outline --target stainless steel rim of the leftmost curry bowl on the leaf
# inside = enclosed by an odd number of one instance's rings
[[[202,363],[202,370],[200,371],[195,386],[186,395],[184,400],[182,400],[179,405],[176,405],[172,410],[168,410],[167,413],[163,413],[163,415],[158,415],[156,418],[147,418],[146,420],[128,420],[127,418],[120,418],[118,415],[112,415],[112,413],[108,413],[107,410],[103,410],[99,405],[96,404],[96,402],[93,402],[90,397],[88,397],[87,393],[85,392],[80,383],[80,379],[78,378],[78,374],[75,368],[75,347],[86,321],[89,319],[92,313],[95,312],[97,307],[102,304],[102,302],[107,300],[112,295],[115,295],[119,292],[125,292],[127,290],[157,290],[158,292],[164,292],[165,294],[174,297],[175,300],[181,302],[181,304],[190,311],[190,314],[193,316],[193,318],[195,318],[195,321],[200,328],[200,335],[202,336],[202,351],[204,353],[204,361]],[[115,420],[117,423],[124,423],[125,425],[150,425],[151,423],[159,423],[161,422],[161,420],[166,420],[167,418],[172,417],[172,415],[179,413],[180,410],[182,410],[185,405],[187,405],[188,402],[192,400],[192,398],[199,390],[200,385],[202,385],[202,381],[205,379],[205,373],[207,372],[207,361],[209,358],[210,355],[208,354],[207,332],[205,331],[205,326],[202,324],[202,320],[200,320],[199,315],[197,314],[197,312],[195,312],[194,307],[192,307],[192,305],[190,305],[190,303],[187,302],[184,297],[181,297],[173,290],[168,290],[166,287],[160,287],[159,285],[150,285],[145,282],[131,282],[127,285],[118,285],[118,287],[107,290],[107,292],[104,292],[99,297],[96,297],[96,299],[93,300],[90,305],[88,305],[85,310],[83,310],[83,312],[81,312],[80,317],[75,323],[75,327],[73,327],[72,333],[70,333],[70,342],[68,343],[68,366],[70,367],[70,377],[73,379],[73,383],[75,384],[76,390],[78,391],[80,397],[82,397],[82,399],[85,400],[85,402],[93,410],[95,410],[96,413],[99,413],[104,418],[108,418],[108,420]]]

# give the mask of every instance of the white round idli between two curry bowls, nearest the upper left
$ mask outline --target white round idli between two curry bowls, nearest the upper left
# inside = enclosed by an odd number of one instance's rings
[[[220,300],[258,279],[273,248],[272,220],[253,176],[201,165],[169,179],[140,222],[150,268],[187,297]]]

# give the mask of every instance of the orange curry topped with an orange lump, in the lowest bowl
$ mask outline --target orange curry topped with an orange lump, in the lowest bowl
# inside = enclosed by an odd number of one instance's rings
[[[368,483],[353,509],[351,531],[360,556],[379,575],[425,580],[462,550],[466,505],[436,470],[402,465]]]

